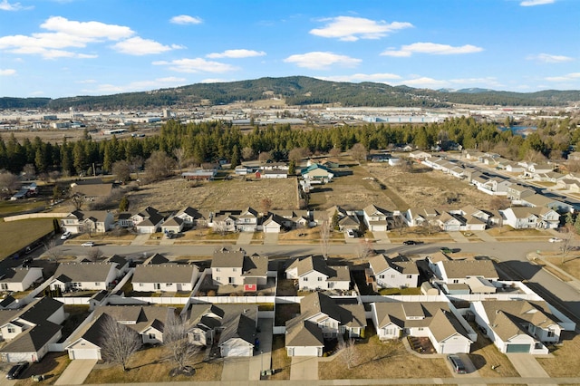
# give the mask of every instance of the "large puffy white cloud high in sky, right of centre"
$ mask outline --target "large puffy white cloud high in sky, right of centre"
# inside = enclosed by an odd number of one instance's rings
[[[322,28],[310,30],[310,34],[336,38],[344,42],[355,42],[359,39],[380,39],[393,31],[413,26],[406,22],[386,23],[382,20],[375,21],[353,16],[338,16],[321,21],[327,22],[327,24]]]

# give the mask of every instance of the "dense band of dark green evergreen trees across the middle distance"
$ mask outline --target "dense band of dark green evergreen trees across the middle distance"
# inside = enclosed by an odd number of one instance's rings
[[[20,173],[34,168],[37,174],[57,170],[68,176],[92,174],[96,171],[93,167],[111,172],[119,161],[140,169],[156,152],[157,157],[166,155],[175,160],[179,168],[219,159],[226,159],[235,167],[245,159],[286,160],[297,148],[304,154],[315,154],[350,150],[357,143],[366,150],[393,149],[408,143],[430,150],[436,144],[445,147],[458,143],[464,149],[495,151],[508,159],[560,159],[578,141],[580,130],[569,119],[540,121],[537,130],[526,137],[511,130],[498,130],[495,123],[465,117],[420,125],[368,123],[300,129],[269,125],[249,132],[220,121],[168,121],[159,134],[140,139],[113,136],[109,140],[93,140],[86,131],[82,140],[63,143],[46,142],[39,137],[19,141],[14,134],[7,139],[0,137],[0,169]]]

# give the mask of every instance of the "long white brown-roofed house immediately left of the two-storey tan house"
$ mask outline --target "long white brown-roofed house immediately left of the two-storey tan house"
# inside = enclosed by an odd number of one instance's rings
[[[190,293],[198,274],[196,265],[137,265],[131,283],[134,291]]]

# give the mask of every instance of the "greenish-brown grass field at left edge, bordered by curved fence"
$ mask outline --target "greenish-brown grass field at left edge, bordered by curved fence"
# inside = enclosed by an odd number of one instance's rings
[[[0,222],[0,257],[14,254],[52,230],[52,218]]]

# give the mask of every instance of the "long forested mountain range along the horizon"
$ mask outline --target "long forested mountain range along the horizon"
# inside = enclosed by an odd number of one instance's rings
[[[375,82],[331,82],[306,76],[260,78],[239,82],[196,83],[150,92],[67,98],[0,98],[0,109],[82,111],[180,108],[219,105],[272,98],[287,105],[329,104],[344,107],[446,108],[454,104],[499,106],[569,106],[580,101],[580,91],[498,92],[488,89],[430,90]]]

